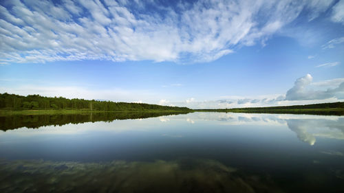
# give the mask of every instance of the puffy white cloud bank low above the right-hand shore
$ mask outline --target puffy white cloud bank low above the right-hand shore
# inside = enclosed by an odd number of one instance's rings
[[[222,100],[197,101],[194,98],[184,102],[170,102],[174,106],[187,106],[191,109],[230,109],[242,107],[261,106],[288,106],[300,104],[316,104],[324,102],[344,101],[344,78],[335,78],[321,82],[312,82],[310,74],[298,78],[294,87],[286,95],[260,95],[260,96],[222,96]]]

